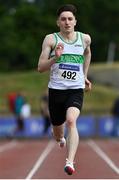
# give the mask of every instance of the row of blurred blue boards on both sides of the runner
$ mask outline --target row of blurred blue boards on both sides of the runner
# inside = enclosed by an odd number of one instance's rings
[[[25,129],[22,132],[17,132],[13,136],[26,138],[44,137],[44,119],[42,117],[31,117],[24,120]],[[14,117],[0,117],[0,137],[8,137],[17,127]],[[113,136],[114,119],[104,116],[96,119],[93,116],[80,116],[77,121],[77,128],[80,137],[110,137]],[[66,130],[67,131],[67,130]],[[51,129],[47,134],[51,137]]]

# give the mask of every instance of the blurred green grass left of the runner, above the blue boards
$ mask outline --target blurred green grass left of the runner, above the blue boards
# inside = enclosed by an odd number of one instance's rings
[[[31,104],[32,112],[40,112],[40,96],[47,88],[48,73],[20,72],[0,74],[0,112],[9,113],[7,96],[10,92],[21,92]]]

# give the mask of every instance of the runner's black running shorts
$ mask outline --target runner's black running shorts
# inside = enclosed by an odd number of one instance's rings
[[[69,107],[77,107],[81,111],[83,95],[83,89],[49,88],[49,112],[52,125],[59,126],[65,122],[66,111]]]

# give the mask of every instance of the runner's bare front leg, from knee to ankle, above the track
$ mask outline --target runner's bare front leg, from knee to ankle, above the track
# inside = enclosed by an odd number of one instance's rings
[[[80,110],[76,107],[69,107],[66,113],[66,123],[68,129],[67,135],[67,159],[74,162],[75,154],[79,144],[79,135],[76,127],[76,120],[80,114]]]

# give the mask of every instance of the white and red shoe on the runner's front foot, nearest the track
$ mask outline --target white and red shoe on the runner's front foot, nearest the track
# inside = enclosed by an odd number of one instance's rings
[[[66,165],[64,166],[64,171],[68,175],[72,175],[75,172],[74,165],[68,159],[66,159]]]

